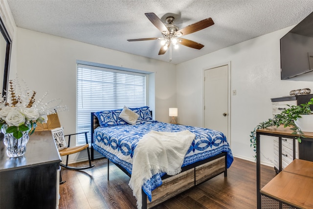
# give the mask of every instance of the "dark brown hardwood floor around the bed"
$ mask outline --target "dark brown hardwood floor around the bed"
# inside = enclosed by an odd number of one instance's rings
[[[88,170],[62,168],[59,209],[135,209],[136,201],[128,186],[130,178],[107,159],[97,159]],[[72,165],[82,166],[88,162]],[[275,176],[272,167],[262,166],[262,186]],[[199,186],[188,189],[154,209],[255,209],[256,163],[235,158],[227,171]]]

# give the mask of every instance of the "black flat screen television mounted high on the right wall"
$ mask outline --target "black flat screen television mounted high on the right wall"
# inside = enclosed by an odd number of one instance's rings
[[[281,79],[313,71],[313,12],[280,39]]]

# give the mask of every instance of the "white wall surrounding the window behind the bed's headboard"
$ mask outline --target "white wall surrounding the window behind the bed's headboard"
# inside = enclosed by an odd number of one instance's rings
[[[76,60],[155,72],[155,98],[152,95],[149,102],[155,102],[151,107],[156,120],[168,121],[168,108],[176,105],[175,65],[19,27],[16,34],[16,70],[11,70],[37,92],[37,99],[48,92],[47,100],[63,100],[68,111],[59,117],[65,134],[76,132]]]

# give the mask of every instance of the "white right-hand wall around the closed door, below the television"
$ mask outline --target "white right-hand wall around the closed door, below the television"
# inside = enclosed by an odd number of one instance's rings
[[[294,89],[313,90],[312,72],[292,80],[280,79],[280,38],[291,28],[177,65],[179,122],[203,126],[203,70],[231,62],[231,90],[237,90],[237,95],[231,96],[231,149],[234,156],[254,161],[249,135],[259,122],[272,117],[270,98],[287,96]],[[262,152],[272,159],[272,142],[262,139]]]

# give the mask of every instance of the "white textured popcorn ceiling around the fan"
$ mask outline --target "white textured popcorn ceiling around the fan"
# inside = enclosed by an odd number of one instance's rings
[[[183,28],[211,17],[214,25],[183,38],[201,43],[173,49],[178,64],[204,54],[299,23],[313,12],[313,0],[7,0],[18,27],[96,46],[169,62],[158,55],[160,41],[127,39],[161,37],[144,13],[164,23],[175,17]]]

